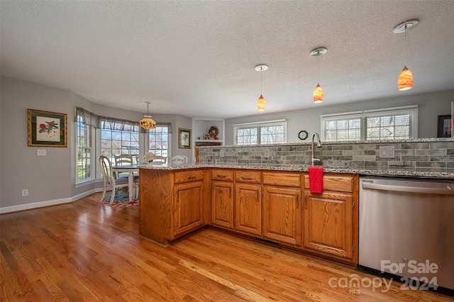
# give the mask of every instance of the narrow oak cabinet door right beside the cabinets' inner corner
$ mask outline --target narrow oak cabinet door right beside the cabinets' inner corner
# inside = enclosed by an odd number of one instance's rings
[[[233,182],[211,182],[211,223],[233,230]]]

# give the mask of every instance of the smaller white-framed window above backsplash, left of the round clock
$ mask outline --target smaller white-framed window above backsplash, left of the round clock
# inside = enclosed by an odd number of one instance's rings
[[[269,145],[287,142],[287,121],[233,125],[235,145]]]

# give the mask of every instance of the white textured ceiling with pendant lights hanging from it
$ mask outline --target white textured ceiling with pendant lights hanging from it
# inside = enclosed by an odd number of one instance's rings
[[[1,74],[132,111],[233,118],[454,89],[454,1],[4,1]],[[414,87],[398,91],[404,35]],[[326,55],[311,57],[315,47]],[[319,79],[317,76],[319,60]],[[312,93],[320,82],[321,104]]]

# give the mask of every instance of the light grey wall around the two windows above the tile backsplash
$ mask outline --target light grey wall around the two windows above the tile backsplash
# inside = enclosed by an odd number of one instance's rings
[[[309,109],[268,114],[258,113],[254,116],[229,118],[226,119],[226,145],[233,145],[233,125],[238,123],[272,121],[284,118],[287,120],[287,142],[301,142],[298,138],[298,133],[301,130],[306,130],[309,133],[306,141],[311,140],[313,133],[320,133],[320,116],[323,114],[408,105],[419,106],[419,138],[436,138],[437,116],[451,114],[450,104],[452,101],[454,101],[454,90],[446,90],[428,94],[413,94],[398,98],[375,99],[332,106],[328,105],[328,100],[325,100],[321,104],[322,106]]]

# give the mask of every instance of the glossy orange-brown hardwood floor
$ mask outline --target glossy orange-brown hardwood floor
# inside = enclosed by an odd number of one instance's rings
[[[454,301],[214,229],[161,247],[138,236],[138,206],[87,198],[1,215],[0,230],[0,301]]]

